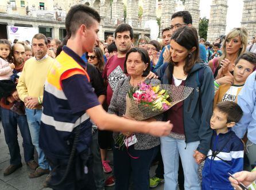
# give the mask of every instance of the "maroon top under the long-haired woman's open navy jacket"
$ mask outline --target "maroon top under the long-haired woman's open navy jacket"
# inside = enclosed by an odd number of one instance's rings
[[[172,85],[174,85],[174,81],[172,81]],[[182,81],[180,86],[184,86],[185,81]],[[184,132],[184,117],[183,117],[183,101],[178,104],[172,106],[167,111],[167,120],[173,124],[172,132],[185,134]]]

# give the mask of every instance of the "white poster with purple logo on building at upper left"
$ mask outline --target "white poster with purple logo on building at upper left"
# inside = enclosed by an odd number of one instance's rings
[[[8,39],[12,42],[14,39],[19,41],[32,41],[35,34],[38,33],[38,27],[21,27],[21,26],[8,26]]]

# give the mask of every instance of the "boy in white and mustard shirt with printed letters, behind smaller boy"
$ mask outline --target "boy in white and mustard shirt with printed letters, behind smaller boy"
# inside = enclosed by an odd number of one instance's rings
[[[243,53],[235,61],[234,80],[232,78],[219,78],[215,80],[214,105],[221,101],[237,102],[237,96],[245,85],[247,77],[256,68],[256,54]],[[232,83],[232,84],[231,84]]]

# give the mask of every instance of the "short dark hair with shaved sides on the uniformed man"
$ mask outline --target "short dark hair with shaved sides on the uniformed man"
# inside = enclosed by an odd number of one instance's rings
[[[90,28],[95,20],[100,23],[100,15],[96,10],[82,4],[72,6],[65,19],[68,38],[74,35],[81,25]]]

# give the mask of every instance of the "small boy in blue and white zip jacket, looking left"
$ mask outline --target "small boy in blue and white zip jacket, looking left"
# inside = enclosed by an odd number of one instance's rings
[[[224,101],[216,105],[210,120],[214,134],[203,168],[203,190],[234,189],[228,181],[228,173],[233,174],[243,170],[244,146],[231,128],[242,115],[242,109],[235,102]],[[200,155],[195,159],[200,160]]]

